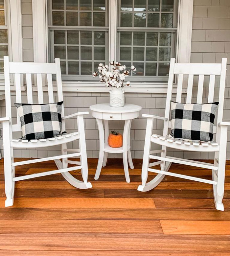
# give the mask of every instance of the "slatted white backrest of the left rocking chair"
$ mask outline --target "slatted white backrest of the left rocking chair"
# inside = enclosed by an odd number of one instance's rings
[[[36,76],[38,104],[43,104],[42,74],[45,74],[47,76],[49,103],[54,103],[53,82],[52,82],[53,74],[56,75],[56,80],[57,80],[58,102],[63,101],[61,69],[60,69],[59,58],[55,59],[55,63],[33,63],[33,62],[9,62],[9,57],[4,56],[6,117],[11,118],[10,74],[14,75],[16,103],[33,104],[33,86],[32,86],[31,74],[35,74]],[[22,102],[22,97],[21,97],[22,75],[21,74],[26,74],[27,102]],[[64,116],[63,105],[62,105],[61,115]],[[62,121],[62,130],[64,129],[65,129],[65,124]],[[17,114],[17,124],[12,125],[12,131],[21,131],[21,122],[18,114]]]

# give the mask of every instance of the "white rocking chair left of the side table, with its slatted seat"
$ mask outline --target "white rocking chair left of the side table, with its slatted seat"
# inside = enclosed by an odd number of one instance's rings
[[[54,103],[53,95],[53,83],[52,74],[56,75],[57,80],[57,90],[58,90],[58,102],[63,101],[62,96],[62,84],[61,84],[61,70],[60,70],[60,60],[55,59],[55,63],[29,63],[29,62],[9,62],[9,57],[4,57],[4,75],[5,75],[5,95],[6,95],[6,117],[0,118],[0,122],[3,123],[3,145],[4,145],[4,173],[5,173],[5,192],[6,201],[5,206],[13,205],[14,199],[14,182],[18,180],[25,180],[34,177],[46,176],[51,174],[61,173],[62,176],[74,187],[80,189],[91,188],[88,179],[88,166],[87,166],[87,156],[86,156],[86,146],[85,146],[85,132],[84,132],[84,120],[83,115],[88,114],[88,112],[79,112],[69,116],[64,116],[64,107],[62,104],[62,131],[65,131],[65,119],[77,116],[78,132],[73,132],[70,134],[62,135],[59,137],[54,137],[50,139],[40,139],[40,140],[20,140],[12,139],[12,132],[21,131],[21,123],[19,116],[17,115],[17,124],[13,125],[11,123],[11,88],[10,88],[10,74],[14,74],[15,81],[15,91],[16,91],[16,103],[22,103],[21,99],[21,74],[26,74],[26,87],[27,87],[27,103],[33,104],[32,96],[32,82],[31,74],[36,74],[37,80],[37,94],[38,94],[38,104],[43,104],[43,89],[42,89],[42,74],[47,75],[48,83],[48,98],[49,103]],[[80,149],[67,149],[66,144],[68,142],[79,140]],[[14,162],[13,161],[13,149],[32,149],[40,147],[50,147],[61,145],[62,155],[45,157],[40,159],[32,159],[27,161]],[[67,154],[67,152],[73,152]],[[79,156],[81,161],[71,161],[68,157]],[[60,161],[62,159],[62,161]],[[38,163],[43,161],[54,160],[58,170],[36,173],[31,175],[23,175],[20,177],[15,177],[14,168],[18,165]],[[76,164],[78,166],[69,167],[68,163]],[[69,171],[81,169],[81,174],[83,182],[74,178]]]

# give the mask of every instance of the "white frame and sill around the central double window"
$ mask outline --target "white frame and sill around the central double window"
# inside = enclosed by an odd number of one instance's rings
[[[34,61],[48,62],[48,26],[47,0],[32,0],[33,31],[34,31]],[[109,3],[109,59],[116,59],[117,46],[117,0]],[[193,0],[179,0],[178,26],[176,40],[176,61],[189,63],[192,40]],[[108,88],[99,81],[62,81],[63,90],[69,92],[107,92]],[[132,82],[131,87],[124,88],[126,92],[167,92],[167,82]],[[176,86],[176,84],[175,84]],[[47,88],[45,87],[44,90]],[[35,88],[36,90],[36,88]]]

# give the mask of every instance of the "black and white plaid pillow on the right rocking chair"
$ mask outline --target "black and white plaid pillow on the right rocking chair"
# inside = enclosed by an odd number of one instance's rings
[[[186,141],[213,140],[213,123],[218,104],[218,102],[206,104],[171,102],[171,135]]]

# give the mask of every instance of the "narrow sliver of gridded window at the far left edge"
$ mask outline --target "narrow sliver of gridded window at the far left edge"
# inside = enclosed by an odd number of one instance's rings
[[[2,7],[2,6],[0,6]],[[0,73],[4,73],[3,69],[3,56],[8,56],[8,26],[6,17],[6,0],[3,1],[3,8],[0,8],[0,12],[4,15],[4,24],[0,24]],[[4,35],[5,34],[5,35]],[[5,40],[6,39],[6,40]],[[5,47],[4,47],[5,46]]]

